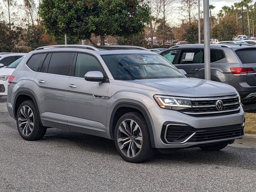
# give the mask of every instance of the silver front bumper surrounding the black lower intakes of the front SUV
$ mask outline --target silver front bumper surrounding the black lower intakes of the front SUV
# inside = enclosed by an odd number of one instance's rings
[[[208,143],[217,143],[221,141],[240,139],[243,137],[243,133],[241,135],[234,135],[228,138],[213,138],[212,140],[193,140],[190,142],[191,138],[187,140],[182,140],[180,143],[170,144],[166,142],[165,135],[166,134],[166,123],[172,122],[171,124],[182,124],[184,126],[188,126],[194,129],[194,132],[200,132],[201,130],[211,130],[213,128],[222,129],[225,127],[232,127],[232,125],[241,125],[243,126],[245,120],[245,114],[240,106],[240,112],[236,114],[223,115],[223,116],[211,116],[211,117],[193,117],[187,114],[174,111],[174,110],[166,110],[161,109],[158,106],[155,106],[148,110],[153,122],[153,133],[154,133],[154,142],[156,148],[188,148],[192,146],[198,146],[200,144],[208,144]],[[164,129],[164,130],[163,130]],[[216,130],[216,129],[215,129]],[[242,128],[243,130],[243,128]],[[194,133],[193,132],[193,133]]]

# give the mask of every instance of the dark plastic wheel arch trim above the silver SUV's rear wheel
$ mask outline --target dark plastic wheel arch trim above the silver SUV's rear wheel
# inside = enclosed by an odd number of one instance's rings
[[[18,111],[18,108],[19,108],[19,105],[17,105],[17,104],[20,103],[19,98],[22,99],[22,102],[24,102],[26,100],[32,100],[34,102],[35,106],[36,106],[36,111],[37,111],[38,115],[40,116],[40,112],[39,112],[38,104],[37,104],[37,101],[36,101],[36,97],[31,92],[22,90],[22,91],[18,92],[16,94],[16,96],[14,97],[13,113],[14,113],[14,118],[15,119],[17,118],[17,111]],[[28,99],[28,98],[30,98],[30,99]],[[42,126],[42,121],[41,121],[40,117],[39,117],[39,122]]]

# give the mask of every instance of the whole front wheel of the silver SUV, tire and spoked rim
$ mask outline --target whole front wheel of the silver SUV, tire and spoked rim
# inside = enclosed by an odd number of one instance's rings
[[[120,117],[114,140],[118,154],[127,162],[145,162],[154,156],[148,126],[140,113],[130,112]]]

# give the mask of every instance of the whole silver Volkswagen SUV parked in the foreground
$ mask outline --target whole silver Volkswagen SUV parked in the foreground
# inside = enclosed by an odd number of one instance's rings
[[[114,140],[128,162],[156,149],[220,150],[244,135],[235,88],[186,78],[138,47],[38,48],[9,77],[7,107],[25,140],[52,127],[92,134]]]

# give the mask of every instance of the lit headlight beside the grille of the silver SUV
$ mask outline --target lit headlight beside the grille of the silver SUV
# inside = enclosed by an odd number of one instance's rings
[[[157,104],[163,109],[182,110],[192,108],[189,98],[177,98],[169,96],[155,95],[154,99]]]

